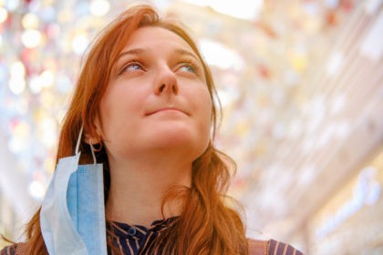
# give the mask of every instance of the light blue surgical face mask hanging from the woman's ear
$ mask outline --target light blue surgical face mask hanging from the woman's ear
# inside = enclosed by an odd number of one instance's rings
[[[40,211],[50,255],[107,254],[102,164],[78,166],[76,155],[58,160]]]

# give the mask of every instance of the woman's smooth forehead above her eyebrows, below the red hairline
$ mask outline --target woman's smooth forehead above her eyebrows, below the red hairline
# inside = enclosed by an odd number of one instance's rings
[[[123,51],[135,47],[153,47],[160,49],[163,46],[187,49],[194,52],[191,46],[181,38],[181,36],[158,26],[144,26],[134,31]]]

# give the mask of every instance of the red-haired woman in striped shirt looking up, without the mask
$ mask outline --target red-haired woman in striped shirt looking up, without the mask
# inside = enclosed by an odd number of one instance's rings
[[[150,6],[130,8],[98,36],[78,78],[57,160],[77,151],[83,127],[80,163],[91,163],[89,148],[96,148],[104,166],[109,254],[296,251],[274,240],[246,240],[240,215],[226,206],[234,164],[212,145],[214,95],[191,37]],[[47,254],[40,210],[26,237],[1,254]]]

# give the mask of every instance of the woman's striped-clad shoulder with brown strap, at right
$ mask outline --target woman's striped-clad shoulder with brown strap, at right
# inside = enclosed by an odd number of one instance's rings
[[[249,255],[303,255],[291,245],[277,240],[247,240],[249,245]]]

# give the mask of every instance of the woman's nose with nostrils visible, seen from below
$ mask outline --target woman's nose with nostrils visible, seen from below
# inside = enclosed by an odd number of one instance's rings
[[[169,67],[164,67],[160,70],[154,92],[156,95],[161,94],[178,94],[177,77]]]

